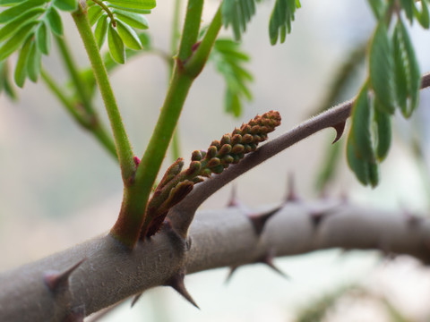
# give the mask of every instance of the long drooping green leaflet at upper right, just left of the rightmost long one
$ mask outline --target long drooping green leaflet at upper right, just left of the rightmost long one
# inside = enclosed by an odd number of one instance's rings
[[[394,113],[394,62],[391,55],[391,40],[383,21],[378,23],[370,44],[369,75],[374,97],[383,111]]]

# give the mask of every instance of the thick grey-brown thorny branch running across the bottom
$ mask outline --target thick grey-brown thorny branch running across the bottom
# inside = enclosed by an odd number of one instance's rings
[[[1,321],[64,321],[167,284],[179,272],[236,267],[276,256],[330,248],[383,250],[430,261],[430,221],[333,201],[293,202],[255,233],[239,208],[198,213],[185,242],[171,228],[125,250],[100,236],[0,275]],[[44,276],[85,258],[51,291]]]

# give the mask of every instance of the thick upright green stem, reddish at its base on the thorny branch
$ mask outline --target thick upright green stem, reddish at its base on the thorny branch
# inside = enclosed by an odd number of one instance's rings
[[[116,239],[129,248],[133,248],[139,239],[150,191],[159,174],[159,168],[166,156],[185,98],[194,80],[185,73],[184,62],[193,54],[193,45],[197,41],[200,30],[202,7],[202,0],[188,0],[179,53],[159,120],[142,161],[137,167],[134,184],[125,187],[120,214],[110,231]]]

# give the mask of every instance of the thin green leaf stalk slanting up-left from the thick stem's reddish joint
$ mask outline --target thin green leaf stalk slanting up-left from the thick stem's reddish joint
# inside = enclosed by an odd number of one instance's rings
[[[118,106],[116,105],[116,98],[107,76],[105,64],[100,56],[99,47],[97,46],[96,39],[92,33],[90,21],[88,21],[87,13],[82,10],[81,4],[79,5],[78,10],[72,13],[72,16],[90,58],[94,76],[99,84],[101,97],[105,102],[107,115],[114,133],[116,151],[119,165],[121,166],[121,174],[123,181],[125,182],[125,186],[127,186],[133,182],[133,175],[135,172],[132,146],[128,140],[121,114],[119,113]]]

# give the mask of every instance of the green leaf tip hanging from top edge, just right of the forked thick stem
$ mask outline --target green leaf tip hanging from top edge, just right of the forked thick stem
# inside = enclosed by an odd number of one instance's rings
[[[224,27],[231,26],[234,38],[240,40],[246,30],[246,24],[255,14],[256,0],[224,0],[221,16]]]

